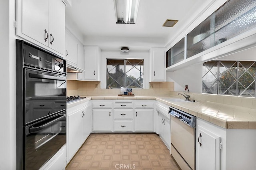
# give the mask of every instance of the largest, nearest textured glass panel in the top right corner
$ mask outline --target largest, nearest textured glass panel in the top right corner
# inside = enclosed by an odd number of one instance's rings
[[[218,45],[256,27],[255,0],[229,0],[215,12],[215,41]]]

